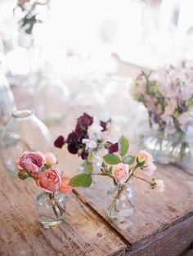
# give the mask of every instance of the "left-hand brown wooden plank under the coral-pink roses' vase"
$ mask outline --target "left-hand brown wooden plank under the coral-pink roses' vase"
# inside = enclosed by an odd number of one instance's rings
[[[126,247],[103,220],[74,194],[67,198],[65,222],[44,229],[36,217],[38,193],[31,179],[20,181],[0,165],[0,255],[109,255]]]

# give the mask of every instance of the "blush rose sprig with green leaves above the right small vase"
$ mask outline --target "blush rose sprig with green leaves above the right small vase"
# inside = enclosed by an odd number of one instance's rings
[[[120,137],[118,142],[118,152],[107,153],[103,156],[103,162],[101,164],[100,173],[92,173],[92,163],[87,161],[88,166],[87,173],[79,173],[78,175],[70,179],[70,186],[91,186],[92,176],[101,175],[108,176],[113,179],[114,185],[127,183],[132,177],[147,182],[150,188],[157,191],[164,191],[164,182],[162,180],[156,180],[151,178],[151,181],[146,178],[137,176],[137,170],[141,169],[147,176],[152,176],[155,172],[156,166],[152,156],[145,150],[140,150],[137,155],[128,155],[128,139],[126,137]]]

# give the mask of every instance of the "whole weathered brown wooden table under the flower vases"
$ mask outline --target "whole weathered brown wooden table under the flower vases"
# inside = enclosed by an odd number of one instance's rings
[[[54,137],[65,124],[52,127]],[[59,167],[73,175],[78,157],[56,150]],[[34,205],[38,189],[34,181],[20,181],[0,163],[1,256],[176,256],[193,255],[193,175],[191,170],[159,165],[156,177],[166,190],[155,193],[141,181],[133,182],[136,207],[127,222],[112,222],[105,215],[108,177],[96,185],[67,196],[67,216],[59,226],[44,229]]]

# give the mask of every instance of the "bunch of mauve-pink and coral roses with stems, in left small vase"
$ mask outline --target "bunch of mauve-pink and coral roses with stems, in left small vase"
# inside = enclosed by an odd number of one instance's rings
[[[65,209],[55,199],[55,193],[56,191],[64,194],[70,193],[72,187],[69,185],[70,177],[62,177],[61,170],[55,167],[56,164],[57,159],[52,152],[43,154],[40,151],[25,151],[16,161],[18,177],[21,180],[28,177],[34,179],[36,185],[49,195],[53,204],[52,209],[58,218],[58,215],[62,215]]]

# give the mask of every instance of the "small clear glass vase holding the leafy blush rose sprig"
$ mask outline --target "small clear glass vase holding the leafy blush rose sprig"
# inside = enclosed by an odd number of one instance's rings
[[[122,222],[132,216],[134,192],[128,183],[114,186],[107,195],[106,213],[110,219]]]

